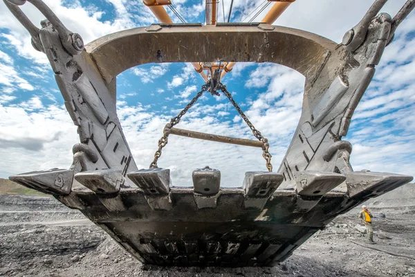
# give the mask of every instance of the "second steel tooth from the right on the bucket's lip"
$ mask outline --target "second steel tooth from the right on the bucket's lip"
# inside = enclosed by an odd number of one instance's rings
[[[334,172],[298,171],[294,172],[297,193],[302,196],[322,196],[342,184],[344,175]]]

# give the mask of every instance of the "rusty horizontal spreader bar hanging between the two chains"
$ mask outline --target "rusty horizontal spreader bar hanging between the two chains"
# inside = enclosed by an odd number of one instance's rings
[[[216,143],[229,143],[236,145],[251,146],[256,148],[264,148],[264,143],[261,141],[252,141],[250,139],[238,139],[230,136],[218,136],[217,134],[207,134],[201,132],[189,131],[186,129],[172,128],[170,134],[176,136],[185,136],[192,139],[203,139],[204,141],[215,141]]]

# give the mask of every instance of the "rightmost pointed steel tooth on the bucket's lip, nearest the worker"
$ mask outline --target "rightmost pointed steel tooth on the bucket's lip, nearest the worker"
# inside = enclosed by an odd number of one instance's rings
[[[361,199],[382,195],[414,179],[407,175],[370,171],[347,172],[344,175],[349,198]]]

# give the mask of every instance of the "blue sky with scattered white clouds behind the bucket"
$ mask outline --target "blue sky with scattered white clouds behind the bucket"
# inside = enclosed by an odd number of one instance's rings
[[[141,1],[44,0],[69,30],[84,42],[109,33],[147,26],[157,19]],[[173,0],[187,22],[202,22],[205,1]],[[234,0],[232,22],[248,22],[263,1]],[[369,0],[297,0],[275,24],[300,28],[340,42],[365,14]],[[405,0],[391,0],[392,17]],[[228,17],[230,0],[224,0]],[[253,21],[260,21],[268,6]],[[43,16],[30,3],[26,15],[39,26]],[[377,66],[374,80],[351,121],[354,170],[415,175],[415,12],[398,28]],[[254,12],[255,14],[255,12]],[[181,21],[172,14],[175,23]],[[222,2],[218,21],[223,21]],[[68,168],[76,127],[57,89],[46,55],[0,1],[0,177],[21,172]],[[146,64],[118,75],[118,116],[138,168],[151,162],[163,126],[203,84],[190,64]],[[240,63],[223,82],[252,123],[270,140],[279,167],[302,108],[304,77],[276,64]],[[223,96],[203,96],[178,127],[252,139],[250,130]],[[239,186],[246,171],[266,170],[261,150],[171,136],[159,166],[172,170],[176,186],[191,185],[192,171],[221,170],[222,186]]]

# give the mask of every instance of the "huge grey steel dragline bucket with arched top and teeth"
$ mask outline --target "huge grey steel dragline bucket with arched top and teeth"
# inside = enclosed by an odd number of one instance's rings
[[[46,17],[40,29],[19,8],[26,1],[4,1],[30,32],[33,46],[48,57],[80,136],[70,168],[10,179],[78,209],[141,262],[272,266],[337,215],[412,180],[354,172],[349,163],[352,147],[342,136],[385,46],[414,1],[407,1],[394,19],[378,14],[386,1],[375,1],[342,44],[270,24],[153,24],[106,35],[86,46],[42,0],[27,1]],[[246,172],[241,188],[225,188],[219,170],[200,168],[192,174],[192,188],[173,187],[168,169],[137,168],[116,114],[116,76],[140,64],[218,57],[273,62],[302,73],[302,116],[277,172]],[[217,86],[225,93],[223,84]],[[199,139],[206,136],[172,130]]]

